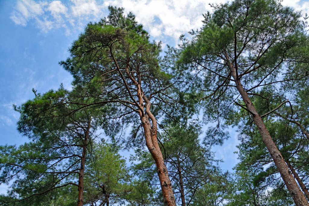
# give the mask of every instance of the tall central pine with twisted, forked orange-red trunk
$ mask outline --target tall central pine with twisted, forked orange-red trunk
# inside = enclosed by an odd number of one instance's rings
[[[133,124],[156,162],[164,204],[176,205],[157,141],[157,117],[164,114],[163,103],[173,105],[177,99],[170,93],[177,78],[160,67],[160,43],[150,43],[135,16],[125,17],[122,8],[109,10],[107,19],[87,25],[70,48],[71,57],[60,63],[73,75],[75,87],[93,88],[69,103],[110,108],[110,128]],[[83,102],[89,97],[91,103]],[[139,141],[137,136],[133,135],[133,142]]]

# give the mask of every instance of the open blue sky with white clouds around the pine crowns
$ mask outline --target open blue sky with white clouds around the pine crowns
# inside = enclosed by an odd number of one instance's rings
[[[70,1],[0,1],[0,144],[21,144],[27,141],[16,131],[19,114],[12,104],[21,105],[34,97],[32,88],[44,93],[61,83],[69,89],[72,77],[58,62],[68,56],[68,48],[89,21],[98,21],[108,14],[108,5],[132,11],[153,40],[175,46],[181,34],[202,26],[202,14],[211,11],[209,3],[221,0],[70,0]],[[284,0],[309,13],[309,0]],[[216,147],[223,158],[223,168],[231,170],[237,162],[233,154],[238,144],[232,138]],[[0,186],[1,190],[1,186]]]

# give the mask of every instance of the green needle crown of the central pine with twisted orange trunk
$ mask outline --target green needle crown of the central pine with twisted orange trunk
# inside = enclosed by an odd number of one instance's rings
[[[157,119],[166,116],[180,121],[186,118],[181,115],[186,107],[178,106],[174,85],[179,74],[173,75],[167,64],[161,64],[161,43],[149,41],[132,13],[125,16],[123,8],[112,6],[109,10],[107,18],[87,25],[70,47],[71,57],[60,64],[74,78],[77,96],[70,103],[105,107],[105,133],[114,138],[120,129],[130,126],[133,130],[127,146],[142,146],[138,112],[145,111],[139,106],[138,90],[149,100]]]

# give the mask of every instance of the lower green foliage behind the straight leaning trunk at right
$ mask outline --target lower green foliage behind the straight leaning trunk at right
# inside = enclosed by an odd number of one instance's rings
[[[278,107],[284,100],[282,96],[276,93],[272,86],[265,86],[255,98],[252,98],[252,102],[260,114],[265,114]],[[308,140],[298,125],[277,116],[279,113],[290,113],[291,108],[295,116],[301,117],[301,113],[304,112],[298,111],[297,104],[287,103],[263,119],[283,158],[289,161],[294,168],[298,168],[298,175],[302,176],[302,181],[306,185],[308,183],[308,167],[306,166]],[[240,162],[235,166],[237,180],[235,190],[238,192],[235,199],[231,201],[234,204],[231,205],[243,205],[242,202],[250,202],[249,205],[294,205],[280,179],[273,159],[261,141],[256,126],[252,125],[252,121],[247,120],[245,115],[241,115],[246,112],[242,110],[235,115],[243,116],[241,119],[244,125],[239,127],[241,144],[237,147]]]

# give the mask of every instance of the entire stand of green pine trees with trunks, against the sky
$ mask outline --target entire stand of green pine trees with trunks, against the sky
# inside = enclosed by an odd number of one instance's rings
[[[0,146],[0,203],[308,205],[306,22],[274,0],[211,6],[164,57],[123,8],[88,23],[59,62],[72,89],[15,106],[29,142]],[[230,173],[212,146],[235,127]]]

